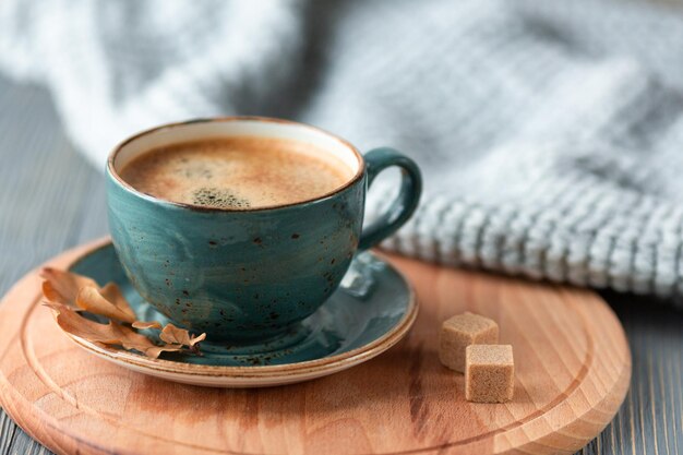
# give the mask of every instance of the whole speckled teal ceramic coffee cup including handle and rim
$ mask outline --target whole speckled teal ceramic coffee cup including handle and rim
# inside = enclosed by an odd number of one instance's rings
[[[157,199],[119,176],[152,148],[235,135],[314,144],[349,166],[352,177],[313,200],[225,209]],[[362,229],[368,187],[392,166],[402,169],[400,192]],[[213,342],[262,342],[291,331],[334,292],[357,251],[379,243],[410,217],[420,191],[418,167],[398,152],[376,148],[363,156],[316,128],[254,117],[144,131],[118,145],[107,164],[109,226],[128,277],[170,321],[206,332]]]

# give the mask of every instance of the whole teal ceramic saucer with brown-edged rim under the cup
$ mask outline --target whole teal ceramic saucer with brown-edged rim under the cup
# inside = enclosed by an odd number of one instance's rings
[[[168,322],[131,286],[111,243],[86,251],[70,270],[100,285],[117,283],[140,320]],[[202,343],[202,356],[165,352],[151,359],[72,338],[106,360],[169,381],[254,387],[307,381],[369,360],[403,338],[416,315],[417,302],[407,280],[387,262],[363,252],[314,314],[288,334],[263,343],[229,345],[207,339]]]

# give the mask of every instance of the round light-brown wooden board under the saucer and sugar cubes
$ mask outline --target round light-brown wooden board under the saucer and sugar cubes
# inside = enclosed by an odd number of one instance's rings
[[[0,403],[64,454],[570,454],[612,419],[631,355],[594,292],[390,259],[421,304],[408,337],[348,371],[262,390],[165,382],[88,355],[39,306],[32,272],[0,306]],[[514,347],[512,403],[466,402],[463,375],[439,362],[441,321],[466,310]]]

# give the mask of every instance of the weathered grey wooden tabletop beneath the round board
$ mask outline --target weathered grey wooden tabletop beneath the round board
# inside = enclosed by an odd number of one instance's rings
[[[43,89],[0,79],[0,294],[106,232],[101,172],[69,144]],[[651,298],[603,296],[626,330],[633,380],[614,421],[579,453],[683,454],[683,312]],[[0,455],[49,453],[0,410]]]

